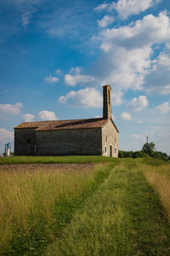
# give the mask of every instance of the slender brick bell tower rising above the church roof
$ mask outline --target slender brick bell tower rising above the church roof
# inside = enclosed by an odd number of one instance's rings
[[[103,118],[111,119],[111,86],[103,86]]]

